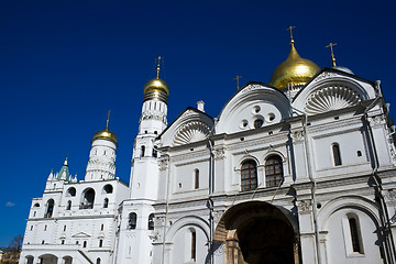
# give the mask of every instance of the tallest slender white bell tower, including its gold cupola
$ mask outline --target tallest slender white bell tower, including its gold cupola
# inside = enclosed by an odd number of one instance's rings
[[[152,263],[154,207],[160,185],[160,153],[154,148],[155,139],[167,125],[167,98],[169,89],[157,73],[144,85],[142,116],[134,141],[129,199],[122,204],[119,233],[118,263]],[[132,261],[133,257],[133,261]]]

